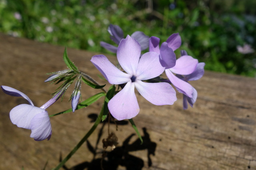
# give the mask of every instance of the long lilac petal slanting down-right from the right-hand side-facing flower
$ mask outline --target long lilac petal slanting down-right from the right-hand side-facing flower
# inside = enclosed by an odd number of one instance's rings
[[[192,97],[193,87],[180,78],[174,76],[174,74],[170,71],[170,69],[165,70],[166,76],[169,78],[170,82],[176,87],[176,89],[182,93],[186,94],[188,97]]]

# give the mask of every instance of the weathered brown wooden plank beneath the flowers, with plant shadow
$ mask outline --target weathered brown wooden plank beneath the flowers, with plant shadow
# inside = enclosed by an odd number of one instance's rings
[[[64,47],[0,34],[0,84],[24,92],[36,106],[42,106],[57,88],[44,83],[45,74],[66,69],[63,52]],[[68,49],[68,55],[80,70],[106,83],[96,76],[100,72],[89,61],[96,53]],[[114,56],[107,56],[115,61]],[[191,82],[198,100],[188,110],[182,109],[179,93],[172,106],[154,106],[137,93],[140,113],[134,121],[144,144],[140,145],[128,121],[118,122],[118,131],[112,122],[110,131],[119,145],[104,159],[105,169],[256,169],[255,83],[254,78],[206,71],[202,79]],[[49,114],[70,108],[71,92],[66,92],[63,102],[49,107]],[[100,90],[82,86],[83,100],[97,92]],[[54,168],[60,154],[66,156],[92,126],[102,104],[100,100],[75,113],[51,117],[52,138],[36,142],[29,137],[30,130],[10,122],[10,109],[24,102],[0,92],[0,169],[42,169],[46,162],[46,169]],[[101,141],[107,136],[108,126],[101,123],[66,167],[100,168]],[[96,148],[95,155],[88,146]]]

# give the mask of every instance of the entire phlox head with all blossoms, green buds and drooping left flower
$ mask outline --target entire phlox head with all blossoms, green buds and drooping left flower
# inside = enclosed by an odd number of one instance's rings
[[[73,112],[92,104],[101,96],[106,96],[107,99],[105,98],[104,102],[107,103],[108,109],[103,106],[103,110],[107,112],[104,113],[105,115],[108,115],[109,111],[117,120],[132,119],[140,111],[135,88],[150,103],[160,106],[172,105],[177,100],[176,91],[172,85],[183,94],[183,108],[187,109],[188,104],[193,107],[196,102],[197,91],[188,81],[201,78],[204,74],[205,64],[198,63],[197,59],[189,56],[183,50],[181,57],[176,59],[174,51],[181,46],[181,37],[178,33],[170,35],[160,46],[158,37],[149,38],[140,31],[134,32],[131,36],[127,35],[125,39],[122,29],[117,25],[110,25],[108,32],[118,47],[105,42],[100,44],[109,51],[116,53],[118,67],[114,66],[104,55],[95,55],[90,61],[106,80],[110,84],[118,86],[117,89],[120,91],[115,92],[116,87],[114,86],[111,88],[114,89],[114,92],[109,90],[109,92],[111,91],[109,93],[103,89],[104,85],[100,86],[90,76],[80,72],[68,59],[65,49],[63,58],[68,69],[52,72],[52,75],[45,80],[45,82],[56,84],[63,82],[63,84],[57,89],[54,97],[43,106],[36,107],[24,93],[8,86],[1,86],[4,93],[10,96],[21,96],[30,103],[18,105],[10,111],[12,123],[18,127],[30,129],[32,131],[30,137],[34,138],[35,141],[49,140],[52,135],[52,128],[46,109],[63,96],[73,82],[76,82],[70,97],[72,100],[70,111]],[[149,51],[142,54],[141,51],[146,49]],[[164,72],[168,79],[162,78]],[[102,89],[103,93],[90,97],[78,107],[81,98],[81,82],[92,88]],[[102,116],[102,120],[105,118]]]

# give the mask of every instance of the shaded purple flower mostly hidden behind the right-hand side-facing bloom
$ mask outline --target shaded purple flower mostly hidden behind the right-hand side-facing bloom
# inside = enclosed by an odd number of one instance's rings
[[[192,80],[198,80],[204,75],[204,65],[205,63],[198,63],[196,66],[196,70],[194,70],[194,72],[192,72],[191,74],[183,75],[183,76],[177,74],[176,76],[186,82],[192,81]],[[190,104],[190,106],[193,107],[194,103],[196,102],[196,98],[197,98],[197,91],[195,88],[193,88],[192,97],[188,97],[185,94],[183,94],[183,109],[188,109],[188,104]]]

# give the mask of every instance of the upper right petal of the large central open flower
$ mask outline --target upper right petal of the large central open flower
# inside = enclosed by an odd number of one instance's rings
[[[136,76],[138,80],[155,78],[164,72],[165,67],[160,63],[159,55],[155,52],[148,52],[141,56]]]

